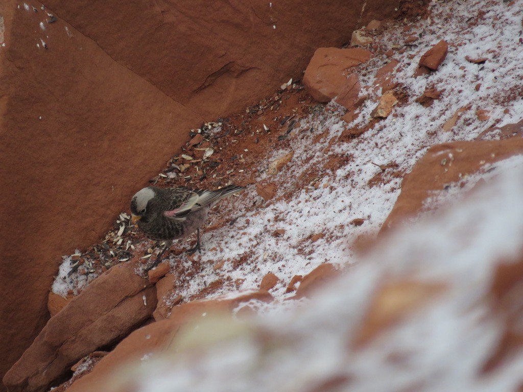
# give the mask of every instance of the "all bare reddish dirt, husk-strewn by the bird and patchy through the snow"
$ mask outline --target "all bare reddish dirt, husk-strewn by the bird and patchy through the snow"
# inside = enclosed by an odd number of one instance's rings
[[[402,3],[400,11],[407,18],[419,16],[423,14],[426,9],[426,2],[417,2],[415,4],[408,2]],[[402,8],[403,7],[403,8]],[[405,8],[406,7],[406,8]],[[404,21],[408,27],[408,20]],[[394,21],[385,20],[381,26],[372,32],[372,35],[379,37],[385,28],[390,27]],[[383,54],[388,45],[381,44],[379,40],[372,45],[372,52],[374,55]],[[403,44],[403,42],[399,42]],[[401,45],[399,45],[401,46]],[[365,75],[368,72],[369,64],[360,64],[354,68],[354,72]],[[399,100],[397,105],[403,105],[407,102],[404,89],[401,85],[394,88],[395,96]],[[191,189],[216,189],[223,187],[229,183],[235,183],[242,186],[255,185],[255,178],[258,170],[263,171],[266,168],[259,167],[259,162],[268,157],[269,154],[278,149],[290,149],[290,140],[292,138],[300,137],[300,134],[316,132],[315,140],[320,140],[324,133],[318,132],[316,129],[299,128],[300,121],[312,115],[319,116],[325,110],[335,110],[326,106],[323,103],[316,102],[305,90],[300,82],[294,82],[286,89],[276,91],[274,95],[264,100],[261,100],[257,105],[247,107],[245,111],[233,114],[228,118],[220,118],[212,123],[201,124],[200,129],[191,130],[187,134],[187,140],[179,155],[170,159],[161,173],[149,180],[150,185],[158,187],[178,187],[186,186]],[[343,112],[340,112],[340,116]],[[331,146],[347,141],[347,139],[355,139],[362,133],[371,129],[379,120],[372,120],[361,129],[349,129],[347,126],[344,132],[337,141],[333,141]],[[221,130],[215,131],[214,126],[221,123]],[[265,125],[265,126],[264,126]],[[331,147],[329,146],[329,147]],[[207,159],[202,160],[206,148],[212,148],[213,153]],[[188,160],[182,155],[191,156],[193,159]],[[266,160],[266,159],[265,159]],[[327,170],[336,169],[350,160],[347,155],[334,155],[326,160],[321,168],[314,171],[303,172],[297,179],[298,188],[306,188],[307,186],[317,186],[322,177],[322,173]],[[374,177],[369,186],[377,186],[388,183],[394,178],[403,177],[404,173],[396,170],[397,165],[394,162],[390,163],[376,163],[381,164],[382,171]],[[171,178],[172,177],[172,178]],[[279,181],[284,179],[280,178]],[[262,181],[260,186],[266,186],[267,181]],[[143,186],[146,186],[144,184]],[[278,180],[271,179],[269,187],[278,187]],[[291,194],[282,194],[278,197],[260,201],[264,206],[280,200],[287,200]],[[258,204],[252,205],[248,210],[257,209]],[[212,231],[224,225],[234,225],[235,221],[226,220],[225,216],[229,216],[230,211],[228,207],[224,206],[219,210],[213,210],[212,224],[204,227],[206,232]],[[147,253],[157,253],[157,246],[154,241],[144,239],[137,227],[126,227],[121,237],[123,241],[120,246],[115,246],[112,243],[112,238],[115,237],[119,229],[119,224],[115,223],[113,229],[107,234],[106,239],[87,250],[78,263],[80,271],[83,273],[99,274],[107,267],[115,265],[119,262],[124,262],[131,257],[141,257]],[[235,227],[237,230],[242,230],[242,227]],[[305,239],[310,241],[310,239]],[[130,244],[134,247],[126,250],[126,245]],[[186,248],[194,246],[196,237],[190,243],[181,243],[179,246],[173,246],[169,249],[168,255],[178,256],[183,253]],[[246,262],[249,258],[248,253],[238,260],[234,261],[234,268]],[[149,260],[154,259],[154,256],[149,259],[143,259],[145,264]],[[179,276],[174,282],[175,287],[184,287],[187,285],[187,278],[200,273],[204,265],[202,263],[209,262],[202,260],[199,257],[189,257],[191,267],[188,271],[181,262],[177,262],[173,274]],[[90,261],[92,268],[88,269],[82,267],[85,260]],[[223,260],[212,260],[215,268],[220,268],[220,262]],[[107,266],[107,267],[106,267]],[[190,297],[178,298],[178,303],[184,303],[195,299],[207,297],[219,291],[223,285],[233,285],[235,282],[227,280],[217,280],[209,284],[200,293]]]

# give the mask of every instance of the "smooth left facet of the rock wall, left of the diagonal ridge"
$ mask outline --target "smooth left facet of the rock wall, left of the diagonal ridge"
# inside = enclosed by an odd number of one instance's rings
[[[3,145],[10,147],[0,156],[0,204],[11,216],[0,227],[3,375],[49,318],[49,287],[61,256],[96,243],[202,118],[71,25],[69,37],[60,7],[53,8],[60,17],[46,31],[49,41],[42,36],[47,51],[33,36],[43,13],[21,13],[13,0],[0,7],[10,26],[0,53],[0,96],[18,108],[2,115]],[[28,74],[38,83],[28,84]],[[131,133],[144,136],[139,145]],[[155,141],[167,133],[173,143],[160,147]],[[38,176],[28,180],[37,167]]]

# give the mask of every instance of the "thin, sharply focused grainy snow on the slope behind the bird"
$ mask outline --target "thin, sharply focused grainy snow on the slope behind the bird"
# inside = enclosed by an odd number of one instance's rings
[[[291,141],[294,157],[275,176],[287,179],[278,188],[276,199],[291,194],[290,200],[282,198],[253,210],[250,207],[259,196],[251,187],[241,197],[222,201],[218,208],[231,211],[231,217],[237,217],[235,224],[211,232],[203,230],[201,261],[206,267],[187,279],[185,286],[177,287],[174,295],[190,298],[217,280],[241,283],[225,285],[215,295],[256,290],[263,276],[272,272],[279,283],[271,294],[282,301],[293,295],[285,290],[294,275],[305,275],[324,262],[339,266],[354,263],[351,241],[376,235],[400,193],[401,178],[390,176],[390,170],[384,172],[383,183],[371,185],[371,179],[381,172],[377,165],[395,163],[395,170],[406,173],[433,144],[473,140],[489,126],[515,123],[523,118],[523,100],[519,99],[523,94],[520,82],[523,50],[518,41],[521,5],[521,1],[488,2],[488,7],[484,1],[433,3],[430,18],[415,22],[408,33],[403,32],[402,26],[385,30],[377,38],[380,45],[386,45],[384,49],[403,43],[407,34],[421,35],[405,53],[394,54],[400,63],[395,77],[403,85],[408,102],[400,103],[391,116],[347,142],[336,141],[347,124],[340,120],[342,111],[335,103],[323,112],[301,119]],[[485,14],[478,17],[480,11]],[[471,17],[474,25],[468,22]],[[446,60],[437,72],[413,77],[420,56],[440,39],[449,43]],[[485,56],[488,60],[472,64],[465,60],[466,55]],[[366,82],[371,87],[363,87],[361,94],[368,94],[369,99],[351,127],[369,125],[369,114],[379,98],[374,91],[373,75],[386,61],[385,56],[377,56],[361,66],[360,71],[365,72],[360,74],[366,74],[360,77],[362,85]],[[478,83],[481,88],[476,91]],[[427,86],[443,91],[429,108],[414,101]],[[469,106],[450,131],[442,131],[442,125],[454,113]],[[480,108],[489,111],[488,121],[477,120],[475,112]],[[220,124],[214,125],[217,125],[215,132],[219,132]],[[323,136],[317,140],[317,135]],[[270,181],[265,169],[272,159],[287,152],[275,151],[260,159],[255,180]],[[335,171],[323,170],[324,163],[336,156],[346,157],[346,163]],[[296,188],[293,179],[311,171],[319,173],[317,189]],[[363,218],[365,222],[362,226],[348,224],[355,218]],[[211,212],[211,224],[212,220]],[[273,236],[276,229],[284,229],[285,234]],[[316,234],[324,236],[313,243],[310,238]],[[245,258],[248,262],[238,262]],[[215,262],[220,260],[225,260],[223,267],[215,270]],[[187,271],[191,268],[187,258],[171,257],[170,262],[173,265],[181,262]],[[62,273],[57,280],[61,276]],[[64,292],[63,288],[60,290]]]

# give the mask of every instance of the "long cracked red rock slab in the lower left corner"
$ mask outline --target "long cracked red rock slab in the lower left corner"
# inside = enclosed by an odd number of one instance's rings
[[[47,390],[83,356],[149,318],[156,307],[156,291],[134,272],[137,268],[137,262],[112,267],[49,319],[4,376],[9,390]]]

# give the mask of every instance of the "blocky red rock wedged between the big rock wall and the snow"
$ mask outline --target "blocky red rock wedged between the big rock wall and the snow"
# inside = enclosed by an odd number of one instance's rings
[[[368,61],[371,55],[358,48],[317,49],[305,70],[303,84],[315,100],[328,102],[346,86],[350,68]]]

